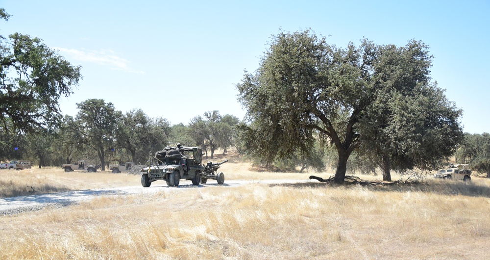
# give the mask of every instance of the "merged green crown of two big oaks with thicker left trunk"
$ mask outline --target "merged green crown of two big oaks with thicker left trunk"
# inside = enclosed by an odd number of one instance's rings
[[[417,41],[396,48],[363,39],[359,48],[341,49],[310,30],[280,32],[259,69],[237,84],[247,109],[238,127],[241,147],[272,162],[310,157],[316,140],[332,144],[339,183],[363,142],[376,145],[362,147],[375,160],[431,165],[454,151],[461,135],[461,111],[429,83],[431,58]],[[432,151],[437,156],[427,156]]]

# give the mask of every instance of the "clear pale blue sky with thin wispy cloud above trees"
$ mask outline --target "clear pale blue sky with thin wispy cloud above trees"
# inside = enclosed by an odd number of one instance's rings
[[[363,37],[378,45],[423,41],[434,55],[433,80],[464,110],[464,130],[490,132],[490,0],[0,0],[0,7],[12,15],[0,22],[1,35],[39,37],[83,67],[80,85],[62,99],[64,114],[99,98],[172,124],[210,110],[243,118],[235,85],[245,69],[257,69],[270,36],[312,28],[343,48]]]

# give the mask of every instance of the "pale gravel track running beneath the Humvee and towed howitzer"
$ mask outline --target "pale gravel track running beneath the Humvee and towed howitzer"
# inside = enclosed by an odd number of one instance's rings
[[[50,193],[50,194],[39,194],[30,196],[20,196],[20,197],[10,197],[10,198],[0,198],[0,215],[9,215],[20,213],[24,211],[35,211],[46,207],[65,207],[73,203],[78,203],[80,201],[92,200],[99,196],[124,196],[124,195],[134,195],[134,194],[147,194],[156,193],[164,189],[173,189],[175,191],[183,191],[186,189],[198,189],[198,188],[213,188],[213,187],[238,187],[244,184],[252,183],[298,183],[298,182],[317,182],[317,181],[298,181],[298,180],[269,180],[269,181],[225,181],[224,184],[219,185],[209,181],[206,184],[192,185],[190,181],[181,182],[178,187],[169,187],[165,182],[155,182],[148,188],[139,186],[125,186],[125,187],[114,187],[114,188],[104,188],[104,189],[87,189],[87,190],[76,190],[70,192],[62,193]]]

